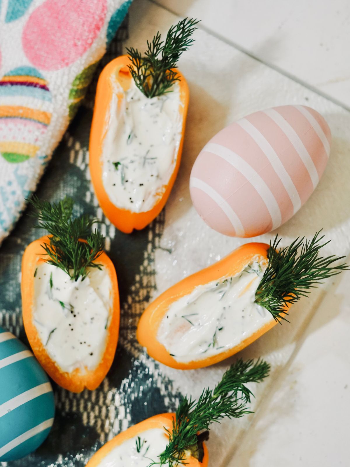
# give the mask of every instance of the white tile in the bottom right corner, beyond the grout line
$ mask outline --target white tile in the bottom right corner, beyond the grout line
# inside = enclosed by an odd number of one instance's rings
[[[349,466],[349,276],[317,310],[229,467]]]

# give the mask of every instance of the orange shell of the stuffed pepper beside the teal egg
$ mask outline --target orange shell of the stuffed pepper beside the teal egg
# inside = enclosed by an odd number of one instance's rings
[[[50,358],[39,337],[38,330],[33,323],[34,274],[38,264],[45,262],[46,255],[41,246],[45,242],[49,242],[48,236],[32,241],[25,249],[22,258],[22,315],[29,344],[42,368],[44,368],[57,384],[72,392],[81,392],[84,388],[91,390],[96,389],[111,367],[117,348],[119,334],[119,291],[117,274],[110,258],[105,253],[102,253],[98,257],[98,263],[103,266],[111,279],[113,297],[112,307],[110,309],[111,321],[108,327],[105,352],[98,367],[94,370],[85,369],[84,372],[79,368],[76,368],[70,373],[64,372],[59,368],[56,362]]]

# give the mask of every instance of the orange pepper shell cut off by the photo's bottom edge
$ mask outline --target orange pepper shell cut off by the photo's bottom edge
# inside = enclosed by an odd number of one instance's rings
[[[160,415],[155,415],[154,417],[147,418],[143,422],[131,426],[125,432],[119,433],[119,435],[115,436],[113,439],[108,441],[108,443],[102,446],[97,451],[97,453],[91,457],[89,462],[86,464],[86,467],[99,467],[100,463],[104,460],[106,455],[112,451],[112,449],[114,449],[117,446],[120,446],[130,438],[140,436],[142,432],[152,430],[154,428],[166,428],[171,432],[174,417],[175,413],[163,413]],[[168,437],[168,434],[165,430],[164,435]],[[199,460],[195,459],[194,457],[189,457],[189,459],[185,461],[185,465],[188,467],[207,467],[209,456],[208,449],[205,446],[205,443],[203,443],[203,450],[203,462],[199,462]],[[156,461],[156,459],[154,459],[154,461]]]

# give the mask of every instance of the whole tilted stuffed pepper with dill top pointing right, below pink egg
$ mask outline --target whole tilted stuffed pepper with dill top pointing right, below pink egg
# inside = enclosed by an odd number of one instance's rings
[[[243,245],[154,300],[140,318],[137,339],[154,359],[179,369],[236,354],[287,321],[288,307],[313,287],[349,268],[335,265],[343,257],[319,255],[322,239],[318,232],[279,251],[277,236],[272,245]]]

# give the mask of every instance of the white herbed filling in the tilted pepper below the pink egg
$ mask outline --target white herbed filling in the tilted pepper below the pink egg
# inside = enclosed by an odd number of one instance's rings
[[[202,360],[237,346],[271,322],[254,302],[266,264],[251,262],[236,276],[199,285],[170,305],[157,339],[176,361]]]

